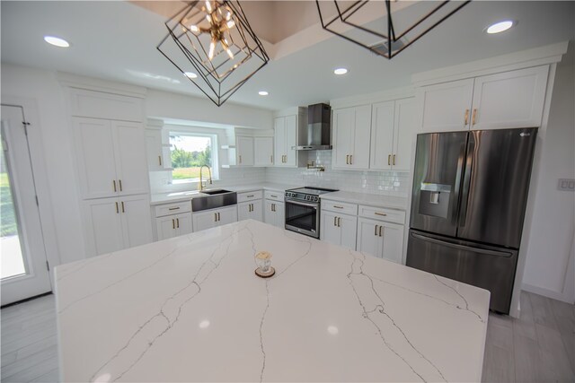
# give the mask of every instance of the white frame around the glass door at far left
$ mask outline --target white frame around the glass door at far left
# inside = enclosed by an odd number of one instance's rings
[[[54,224],[52,198],[50,196],[47,165],[45,161],[44,145],[42,140],[38,102],[35,99],[2,95],[2,105],[22,107],[28,126],[28,145],[36,196],[38,196],[38,211],[40,214],[40,227],[44,239],[46,260],[49,263],[49,278],[54,291],[54,268],[60,265],[59,248],[57,244],[57,229]],[[63,121],[63,123],[66,123]]]

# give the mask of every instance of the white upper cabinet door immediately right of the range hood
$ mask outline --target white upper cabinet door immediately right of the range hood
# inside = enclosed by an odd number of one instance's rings
[[[333,110],[333,168],[349,169],[349,155],[352,152],[352,135],[355,122],[355,109]]]

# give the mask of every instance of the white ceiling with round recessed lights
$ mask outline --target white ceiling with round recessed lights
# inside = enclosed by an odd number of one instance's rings
[[[270,21],[293,24],[293,17],[284,16],[305,10],[302,18],[305,21],[300,24],[305,27],[310,17],[318,17],[310,16],[311,10],[317,13],[310,4],[284,3],[279,9],[289,12],[278,12],[276,6],[261,4],[261,13],[266,12],[263,10],[267,6],[272,16],[267,26],[261,22],[261,15],[257,16],[260,22],[252,23],[256,34],[259,24],[262,34],[281,44],[287,40],[279,39],[294,29],[282,27],[272,36]],[[248,11],[257,9],[256,5],[257,2],[246,4],[248,18]],[[1,6],[3,62],[200,95],[155,49],[166,33],[162,15],[121,1],[2,1]],[[499,35],[483,32],[487,25],[502,19],[516,20],[517,26]],[[227,102],[282,109],[385,91],[408,85],[413,73],[575,39],[574,21],[572,1],[473,1],[392,60],[331,37],[315,25],[305,31],[306,48],[276,54],[280,44],[272,45],[272,56],[279,58],[253,76]],[[317,36],[310,39],[310,33]],[[49,46],[42,39],[44,35],[65,38],[72,47]],[[300,40],[302,37],[305,36],[300,36]],[[292,45],[293,42],[292,39]],[[349,74],[334,76],[332,70],[339,66],[349,68]],[[260,90],[270,91],[270,96],[259,96]]]

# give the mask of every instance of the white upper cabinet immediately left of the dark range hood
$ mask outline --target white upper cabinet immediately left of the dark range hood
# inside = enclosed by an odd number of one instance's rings
[[[295,146],[306,127],[305,112],[274,118],[274,152],[275,166],[296,168],[305,165],[305,152],[298,152]]]

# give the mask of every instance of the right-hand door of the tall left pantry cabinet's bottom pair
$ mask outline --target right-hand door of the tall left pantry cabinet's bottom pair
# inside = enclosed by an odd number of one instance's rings
[[[153,240],[150,199],[144,196],[119,197],[124,248],[145,245]]]

